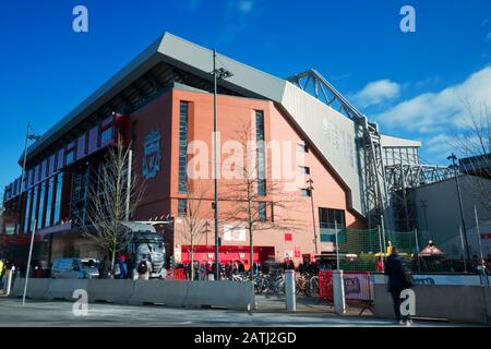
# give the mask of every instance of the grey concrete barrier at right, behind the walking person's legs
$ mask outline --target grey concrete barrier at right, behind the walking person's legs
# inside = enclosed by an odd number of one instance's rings
[[[487,323],[488,309],[484,294],[489,287],[417,285],[416,317],[443,318],[459,323]],[[384,284],[375,285],[376,316],[394,317],[392,297]]]

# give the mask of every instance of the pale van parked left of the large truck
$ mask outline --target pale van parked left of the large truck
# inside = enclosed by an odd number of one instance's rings
[[[98,278],[99,261],[96,258],[58,258],[51,267],[51,278],[93,279]]]

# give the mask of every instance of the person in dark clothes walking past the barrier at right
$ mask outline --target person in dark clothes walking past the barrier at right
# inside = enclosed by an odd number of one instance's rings
[[[400,292],[405,289],[411,288],[412,282],[409,280],[404,267],[403,261],[397,254],[397,249],[393,248],[392,253],[385,264],[385,275],[388,277],[387,291],[392,296],[394,304],[394,315],[396,321],[400,324],[411,324],[409,316],[403,318],[400,314]]]

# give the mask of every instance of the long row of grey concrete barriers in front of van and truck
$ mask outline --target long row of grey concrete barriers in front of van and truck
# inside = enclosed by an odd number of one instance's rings
[[[11,297],[22,297],[24,278],[16,278]],[[28,282],[27,298],[74,301],[75,290],[85,290],[89,302],[216,306],[250,310],[254,304],[252,282],[189,280],[36,279]]]

